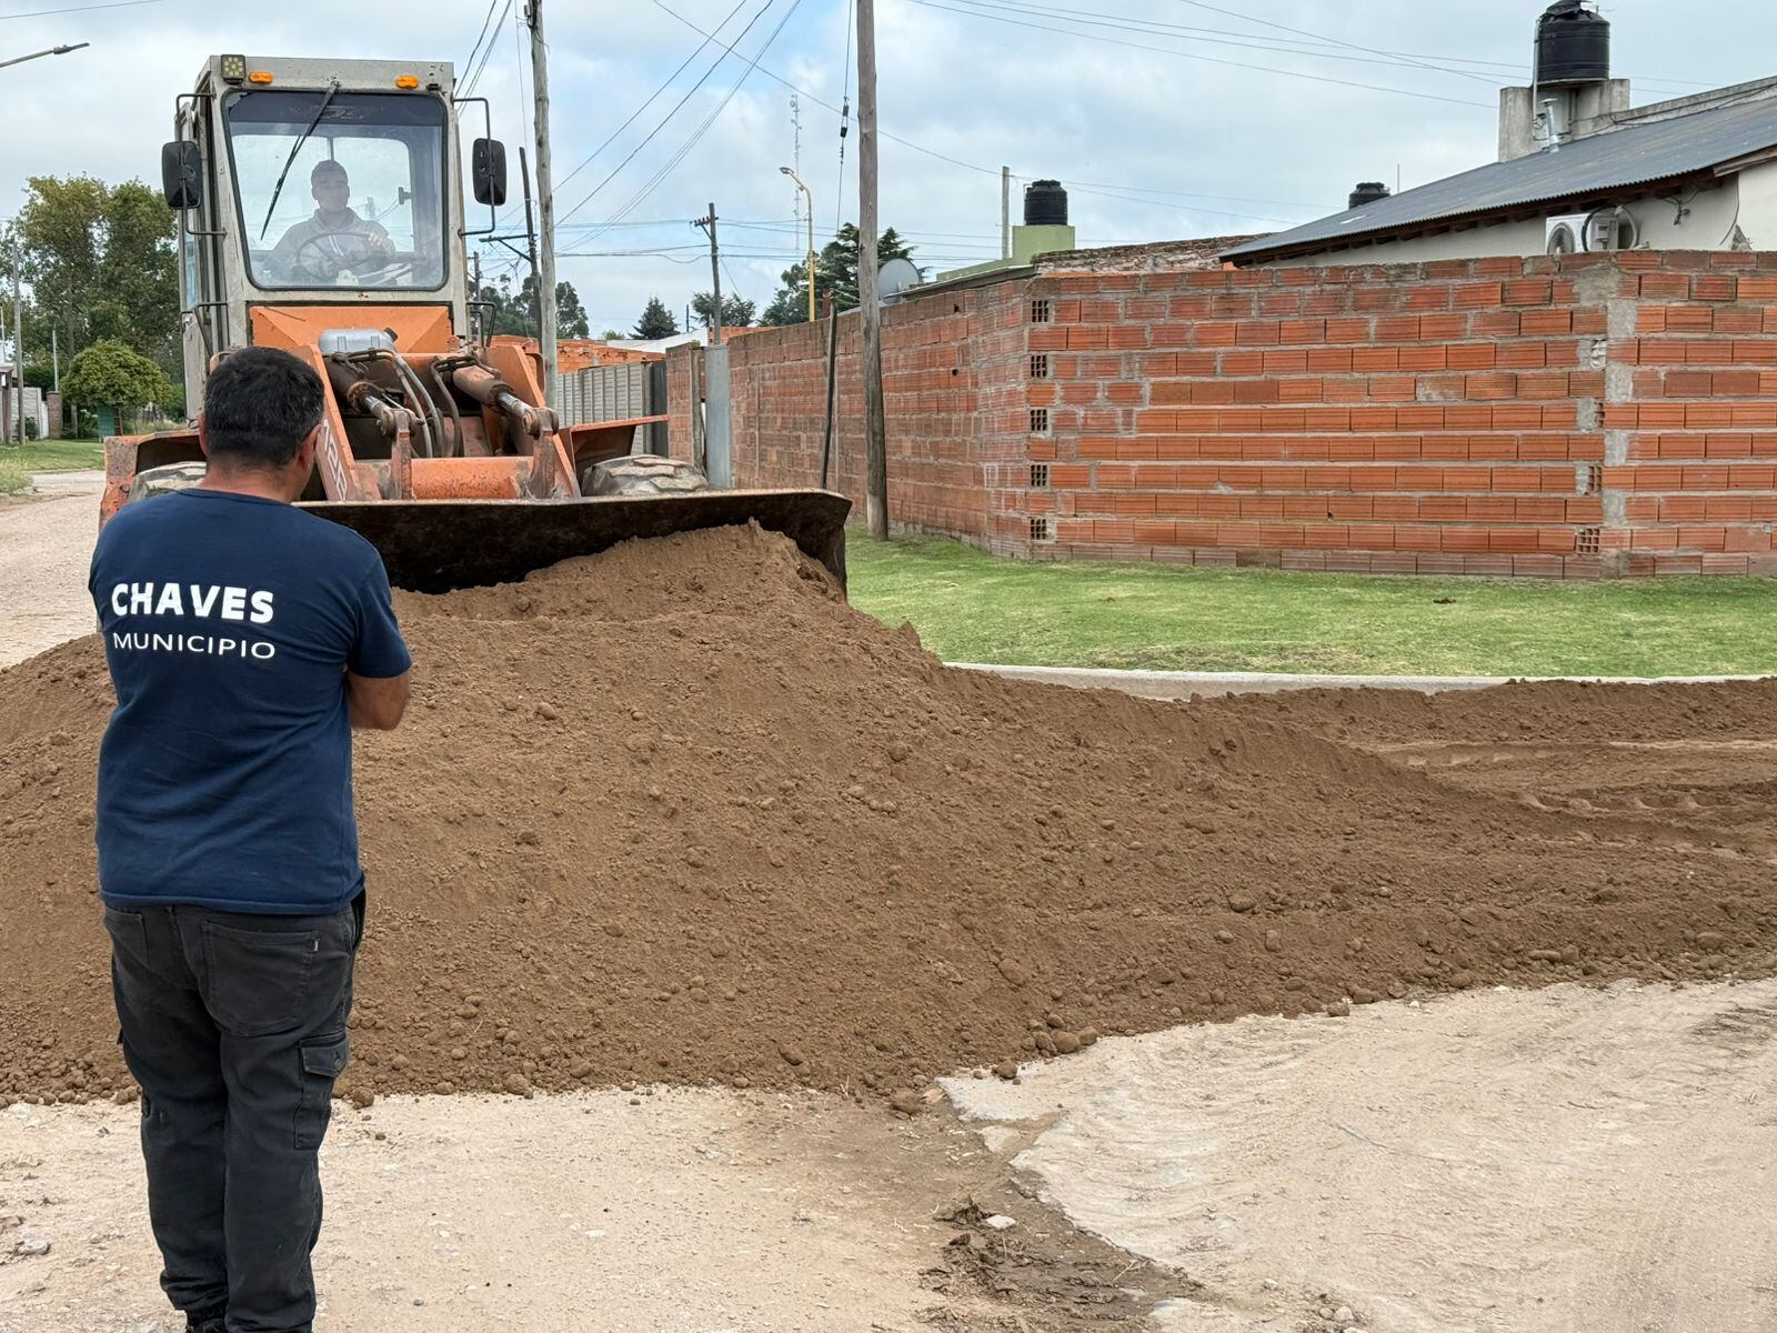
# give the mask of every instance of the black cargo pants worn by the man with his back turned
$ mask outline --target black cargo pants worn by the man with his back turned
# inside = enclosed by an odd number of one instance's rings
[[[105,930],[160,1285],[227,1333],[307,1333],[363,894],[325,917],[107,906]]]

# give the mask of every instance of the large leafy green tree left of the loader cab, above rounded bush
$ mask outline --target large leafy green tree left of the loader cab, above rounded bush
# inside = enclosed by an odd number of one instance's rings
[[[140,181],[34,176],[18,212],[20,274],[30,284],[25,341],[116,339],[178,373],[179,284],[172,210]],[[11,272],[9,272],[11,275]]]

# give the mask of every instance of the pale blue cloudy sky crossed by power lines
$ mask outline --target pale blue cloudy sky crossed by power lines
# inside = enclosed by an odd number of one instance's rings
[[[462,76],[489,18],[496,23],[482,43],[476,92],[492,98],[496,135],[508,148],[528,133],[524,0],[494,0],[492,9],[487,0],[0,4],[0,55],[92,43],[0,69],[9,130],[0,172],[14,188],[46,172],[153,181],[172,100],[211,52],[446,59]],[[1002,164],[1020,187],[1040,176],[1066,181],[1082,243],[1125,243],[1274,231],[1343,208],[1358,180],[1393,187],[1398,176],[1411,187],[1491,162],[1496,89],[1525,82],[1544,7],[876,4],[881,217],[913,240],[928,268],[999,252]],[[1614,25],[1614,69],[1633,80],[1637,103],[1777,73],[1772,0],[1615,0],[1603,11]],[[803,247],[794,190],[778,174],[796,155],[793,91],[816,245],[835,220],[857,219],[855,123],[844,176],[839,167],[837,108],[857,91],[848,12],[846,0],[547,0],[565,224],[558,251],[574,256],[560,268],[595,334],[627,329],[656,293],[682,318],[689,295],[709,286],[707,251],[689,219],[711,199],[723,219],[723,288],[761,306],[771,299]],[[700,48],[691,25],[721,25],[720,37],[739,55]],[[1015,219],[1016,210],[1015,194]]]

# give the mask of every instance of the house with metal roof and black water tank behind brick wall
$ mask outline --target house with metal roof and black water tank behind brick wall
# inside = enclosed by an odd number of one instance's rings
[[[1557,0],[1535,84],[1500,91],[1500,160],[1235,245],[1239,267],[1418,263],[1582,251],[1777,249],[1777,76],[1630,107],[1610,23]]]

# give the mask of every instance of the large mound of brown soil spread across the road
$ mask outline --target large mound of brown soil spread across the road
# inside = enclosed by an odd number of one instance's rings
[[[1772,969],[1768,823],[1599,825],[1336,739],[1420,707],[1393,697],[949,670],[757,530],[400,613],[414,706],[357,746],[359,1095],[888,1097],[1183,1020]],[[1498,725],[1566,727],[1546,690]],[[1777,690],[1596,698],[1713,732]],[[94,640],[0,674],[0,1104],[128,1091],[91,846],[108,702]]]

